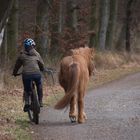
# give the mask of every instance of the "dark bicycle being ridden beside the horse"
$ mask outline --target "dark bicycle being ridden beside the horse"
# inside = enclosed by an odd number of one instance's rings
[[[21,73],[16,74],[16,76],[19,75],[21,75]],[[27,113],[31,122],[34,122],[35,124],[39,124],[40,104],[39,104],[38,94],[36,91],[36,86],[34,81],[31,82],[31,89],[32,91],[31,94],[29,95],[29,109]]]

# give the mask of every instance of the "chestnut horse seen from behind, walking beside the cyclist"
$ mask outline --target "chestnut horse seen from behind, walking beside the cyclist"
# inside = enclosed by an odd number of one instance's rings
[[[60,63],[59,83],[64,88],[65,95],[55,105],[55,109],[63,109],[70,104],[69,117],[71,122],[84,123],[84,96],[93,72],[94,50],[85,47],[72,49],[70,55]]]

